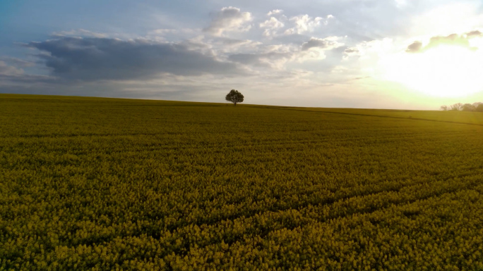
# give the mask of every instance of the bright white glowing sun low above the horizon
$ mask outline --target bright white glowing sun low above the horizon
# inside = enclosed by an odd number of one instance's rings
[[[381,61],[386,80],[440,97],[483,91],[483,54],[463,46],[440,45],[421,53],[398,53]]]

